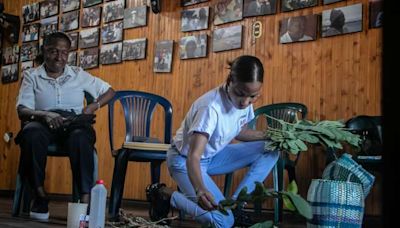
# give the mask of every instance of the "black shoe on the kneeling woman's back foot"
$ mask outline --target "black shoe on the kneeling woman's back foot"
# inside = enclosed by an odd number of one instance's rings
[[[146,187],[147,201],[150,202],[149,216],[153,222],[167,218],[170,210],[170,199],[165,199],[160,193],[160,189],[162,187],[166,187],[166,185],[162,183],[155,183]],[[169,225],[170,223],[171,220],[166,220],[160,222],[159,224]]]

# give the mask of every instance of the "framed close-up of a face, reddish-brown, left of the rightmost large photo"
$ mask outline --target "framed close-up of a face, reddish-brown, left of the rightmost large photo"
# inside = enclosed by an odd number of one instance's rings
[[[293,43],[317,39],[318,15],[284,18],[280,21],[279,43]]]

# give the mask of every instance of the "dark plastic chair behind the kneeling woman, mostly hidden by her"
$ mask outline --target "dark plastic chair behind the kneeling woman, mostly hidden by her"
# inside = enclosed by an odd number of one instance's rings
[[[257,108],[254,111],[255,118],[252,122],[250,122],[249,127],[255,129],[255,125],[257,123],[257,119],[259,117],[264,117],[264,114],[269,116],[282,119],[286,122],[294,122],[297,119],[305,119],[307,116],[307,106],[301,103],[276,103],[271,105],[265,105]],[[280,128],[280,123],[276,120],[266,119],[267,125],[273,128]],[[283,170],[284,168],[288,171],[289,181],[296,179],[295,166],[297,164],[299,155],[296,159],[290,160],[286,153],[281,153],[279,156],[279,160],[274,167],[273,170],[273,182],[274,182],[274,190],[282,191],[283,190]],[[230,194],[230,188],[232,185],[232,176],[233,173],[227,174],[225,176],[225,186],[224,186],[224,195],[228,197]],[[261,211],[261,205],[255,205],[255,210],[257,212]],[[278,224],[282,221],[282,210],[283,210],[283,201],[281,198],[275,199],[274,205],[274,223]]]

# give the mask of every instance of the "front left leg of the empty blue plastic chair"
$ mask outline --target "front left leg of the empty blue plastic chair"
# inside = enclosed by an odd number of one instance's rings
[[[108,208],[109,217],[116,219],[119,216],[122,195],[124,193],[126,169],[128,167],[128,153],[121,150],[115,157],[114,173],[111,184],[110,204]]]

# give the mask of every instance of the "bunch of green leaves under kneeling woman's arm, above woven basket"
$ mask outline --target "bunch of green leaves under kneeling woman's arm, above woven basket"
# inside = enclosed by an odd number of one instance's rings
[[[265,144],[267,150],[284,150],[292,154],[307,151],[307,144],[320,144],[327,148],[343,149],[342,143],[359,147],[361,138],[345,128],[343,121],[296,120],[289,123],[281,119],[265,115],[267,119],[278,122],[279,127],[268,127],[266,135],[271,142]]]

